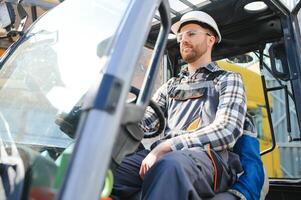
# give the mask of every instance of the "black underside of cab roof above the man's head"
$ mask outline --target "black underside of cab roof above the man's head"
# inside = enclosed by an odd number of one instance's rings
[[[262,48],[266,43],[279,41],[283,37],[281,19],[290,13],[280,0],[264,1],[266,8],[248,11],[245,6],[258,0],[169,0],[172,24],[183,14],[201,10],[210,14],[219,25],[222,41],[213,51],[213,58],[220,59]],[[153,20],[147,45],[154,46],[160,17]],[[170,39],[167,50],[178,52],[176,39]]]

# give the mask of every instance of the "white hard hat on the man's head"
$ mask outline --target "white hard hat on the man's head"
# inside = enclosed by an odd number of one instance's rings
[[[217,26],[216,22],[210,15],[208,15],[207,13],[205,13],[203,11],[191,11],[191,12],[184,14],[181,17],[180,21],[174,23],[171,26],[172,32],[174,34],[177,34],[181,25],[183,23],[189,22],[189,21],[197,21],[197,22],[208,24],[211,28],[213,28],[213,30],[216,31],[217,36],[218,36],[218,43],[220,43],[220,41],[222,40],[222,36],[218,30],[218,26]]]

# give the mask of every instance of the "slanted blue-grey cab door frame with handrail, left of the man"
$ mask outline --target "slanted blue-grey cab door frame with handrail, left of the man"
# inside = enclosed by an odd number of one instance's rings
[[[125,1],[118,3],[122,5]],[[115,4],[114,2],[112,5]],[[140,94],[137,95],[136,104],[127,105],[127,95],[135,66],[142,53],[151,20],[157,9],[162,26],[146,79]],[[118,164],[122,157],[132,150],[130,147],[139,144],[137,141],[142,139],[141,135],[129,136],[137,136],[134,138],[136,141],[133,144],[127,137],[121,138],[119,132],[122,125],[135,123],[143,117],[144,109],[150,100],[154,77],[157,74],[157,65],[163,55],[169,30],[170,18],[167,0],[128,1],[124,17],[108,47],[109,52],[102,57],[103,61],[107,62],[106,67],[102,69],[100,77],[85,96],[76,132],[77,141],[58,199],[97,199],[111,156],[114,158],[114,163]],[[133,49],[135,51],[132,51]],[[127,131],[132,133],[133,129],[131,128],[135,127],[127,128]],[[116,144],[115,142],[118,140],[121,141]],[[80,185],[78,180],[81,180]]]

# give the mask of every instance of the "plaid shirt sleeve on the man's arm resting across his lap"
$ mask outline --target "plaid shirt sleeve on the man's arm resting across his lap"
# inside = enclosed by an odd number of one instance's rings
[[[204,147],[214,150],[231,149],[243,133],[247,111],[246,97],[241,76],[227,73],[218,82],[219,104],[214,121],[193,132],[181,131],[169,139],[172,150]]]

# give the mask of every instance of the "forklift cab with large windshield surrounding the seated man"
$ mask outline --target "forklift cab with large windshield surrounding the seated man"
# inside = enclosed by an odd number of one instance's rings
[[[3,197],[99,198],[107,169],[143,138],[137,124],[153,88],[185,65],[170,25],[202,10],[223,38],[213,59],[243,77],[269,175],[266,199],[298,199],[300,7],[280,0],[72,0],[50,10],[0,60],[1,164],[19,186]]]

